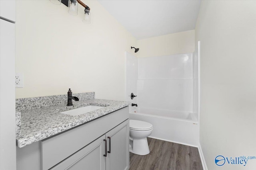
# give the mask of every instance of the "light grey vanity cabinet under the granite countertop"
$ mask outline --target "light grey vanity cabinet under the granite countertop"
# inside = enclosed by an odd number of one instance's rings
[[[17,170],[128,170],[129,108],[16,151]]]

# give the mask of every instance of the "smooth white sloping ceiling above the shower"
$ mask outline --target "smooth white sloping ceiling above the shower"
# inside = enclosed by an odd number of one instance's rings
[[[201,0],[99,0],[136,39],[195,29]]]

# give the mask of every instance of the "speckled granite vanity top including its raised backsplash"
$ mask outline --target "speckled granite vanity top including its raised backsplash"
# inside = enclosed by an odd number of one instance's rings
[[[66,96],[67,95],[58,95],[57,97],[45,96],[16,100],[16,112],[21,113],[20,131],[16,133],[18,147],[21,148],[52,135],[56,135],[62,131],[76,127],[129,105],[129,102],[124,101],[94,99],[94,92],[90,92],[73,94],[73,96],[77,96],[80,101],[73,102],[74,106],[66,106]],[[54,101],[52,101],[53,99]],[[46,101],[50,106],[43,107],[41,104]],[[40,102],[40,104],[38,102]],[[44,104],[44,106],[45,105],[46,104]],[[59,113],[61,111],[89,105],[106,107],[78,116]]]

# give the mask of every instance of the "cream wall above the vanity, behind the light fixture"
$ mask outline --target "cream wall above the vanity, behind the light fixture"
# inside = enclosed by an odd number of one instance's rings
[[[68,8],[49,0],[16,1],[16,72],[24,88],[16,98],[96,92],[96,98],[125,100],[125,55],[136,39],[97,1],[92,23],[82,22]]]

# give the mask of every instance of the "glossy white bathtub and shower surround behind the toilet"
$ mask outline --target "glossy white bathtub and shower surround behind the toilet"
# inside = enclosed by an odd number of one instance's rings
[[[198,146],[198,64],[194,53],[136,58],[126,53],[130,119],[151,123],[150,137]],[[130,94],[137,95],[131,100]]]

